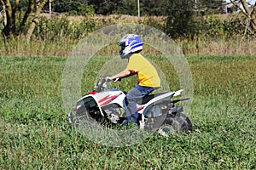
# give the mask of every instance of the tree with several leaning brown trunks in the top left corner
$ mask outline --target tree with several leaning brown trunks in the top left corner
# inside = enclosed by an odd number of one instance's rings
[[[42,8],[44,8],[45,3],[48,1],[49,0],[28,0],[26,2],[26,10],[23,12],[19,5],[20,0],[15,0],[15,2],[10,0],[0,0],[3,8],[4,37],[17,37],[23,34],[29,41],[35,26],[38,24],[39,14],[41,13]],[[19,16],[18,19],[20,22],[16,20],[17,16]],[[29,23],[29,26],[28,29],[25,30],[27,23]]]

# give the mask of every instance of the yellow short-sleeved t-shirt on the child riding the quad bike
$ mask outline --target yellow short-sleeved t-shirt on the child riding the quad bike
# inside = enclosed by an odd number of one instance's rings
[[[142,54],[132,54],[126,70],[137,72],[139,85],[152,88],[160,87],[160,77],[157,71]]]

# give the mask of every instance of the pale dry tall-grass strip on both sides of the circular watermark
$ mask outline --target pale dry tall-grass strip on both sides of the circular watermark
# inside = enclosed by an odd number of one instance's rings
[[[59,42],[49,42],[33,40],[26,42],[25,39],[18,38],[9,40],[5,44],[0,44],[1,56],[64,56],[67,57],[73,51],[73,48],[79,41],[69,39],[61,39]],[[256,54],[255,39],[242,40],[241,38],[234,38],[229,40],[200,40],[200,41],[186,41],[176,40],[177,46],[183,50],[185,55],[232,55],[232,54]],[[117,44],[114,44],[116,46]],[[117,49],[115,47],[108,47],[108,54],[116,55]],[[145,54],[159,55],[154,48],[144,51]],[[104,54],[104,51],[102,51]]]

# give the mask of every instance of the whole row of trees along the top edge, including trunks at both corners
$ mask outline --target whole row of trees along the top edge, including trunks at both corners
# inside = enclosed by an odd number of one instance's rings
[[[247,32],[255,32],[255,4],[230,0],[240,9]],[[241,5],[238,5],[241,3]],[[201,18],[224,13],[224,0],[0,0],[0,21],[4,37],[25,36],[29,40],[39,22],[39,14],[49,12],[79,14],[138,14],[166,16],[165,31],[172,37],[193,36],[207,29]],[[241,23],[241,22],[240,22]],[[211,26],[211,23],[207,23]],[[218,24],[218,23],[217,23]],[[216,26],[216,23],[215,23]],[[233,26],[232,23],[230,26]]]

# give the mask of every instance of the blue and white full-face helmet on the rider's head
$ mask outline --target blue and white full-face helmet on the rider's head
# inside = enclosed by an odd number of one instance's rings
[[[143,41],[136,34],[127,34],[120,40],[119,46],[121,46],[121,50],[119,51],[120,57],[121,59],[125,59],[129,57],[128,54],[141,51],[143,49]]]

